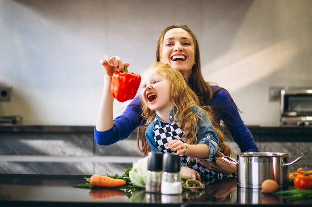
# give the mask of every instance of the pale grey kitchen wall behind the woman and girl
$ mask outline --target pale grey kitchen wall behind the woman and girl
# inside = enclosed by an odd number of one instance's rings
[[[180,23],[199,39],[205,79],[231,93],[245,123],[278,124],[269,87],[312,86],[311,10],[311,0],[0,0],[0,86],[12,87],[0,116],[94,124],[102,56],[141,73],[162,29]]]

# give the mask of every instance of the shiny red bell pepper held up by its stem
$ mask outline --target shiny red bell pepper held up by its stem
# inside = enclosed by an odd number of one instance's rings
[[[120,102],[133,99],[141,82],[139,74],[128,72],[125,65],[124,70],[124,72],[116,71],[112,76],[111,94]]]

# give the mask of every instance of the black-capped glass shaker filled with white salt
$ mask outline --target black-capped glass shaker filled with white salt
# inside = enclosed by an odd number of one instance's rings
[[[162,165],[161,193],[166,195],[182,194],[180,156],[164,154]]]

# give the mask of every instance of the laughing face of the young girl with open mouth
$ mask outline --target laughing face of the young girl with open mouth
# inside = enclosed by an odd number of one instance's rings
[[[149,69],[142,78],[141,97],[145,105],[153,111],[170,112],[173,108],[171,99],[171,85],[165,77]]]

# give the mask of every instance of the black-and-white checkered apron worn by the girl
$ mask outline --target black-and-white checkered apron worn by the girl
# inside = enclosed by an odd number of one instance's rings
[[[155,130],[153,131],[153,137],[156,142],[156,146],[158,150],[163,153],[168,154],[175,154],[167,145],[166,143],[173,141],[174,139],[181,140],[182,142],[186,143],[187,139],[183,137],[182,129],[173,122],[172,124],[167,124],[165,126],[160,126],[158,123],[157,118],[155,117],[154,120]],[[198,163],[197,158],[193,159],[191,163],[188,163],[190,157],[189,156],[181,156],[181,162],[185,163],[190,168],[196,170],[201,177],[201,182],[204,184],[212,183],[216,180],[222,180],[223,177],[235,177],[236,173],[231,175],[223,175],[222,173],[216,173],[214,171],[210,171],[206,167],[202,166]]]

